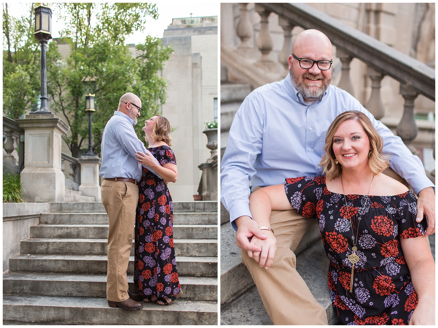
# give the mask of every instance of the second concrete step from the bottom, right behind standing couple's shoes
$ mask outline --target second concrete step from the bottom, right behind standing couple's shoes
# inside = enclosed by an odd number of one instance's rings
[[[133,276],[129,288],[138,292]],[[216,277],[180,277],[184,300],[217,300]],[[106,275],[9,272],[3,275],[5,295],[106,297]]]

